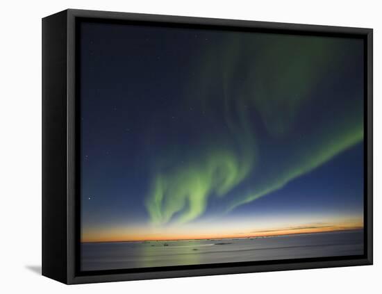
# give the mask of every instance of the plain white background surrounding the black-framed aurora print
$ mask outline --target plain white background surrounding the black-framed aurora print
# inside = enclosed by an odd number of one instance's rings
[[[381,293],[382,9],[376,0],[3,1],[0,17],[2,293]],[[40,276],[41,18],[66,8],[374,28],[374,266],[65,286]],[[379,275],[378,272],[380,271]],[[243,292],[239,292],[243,291]]]

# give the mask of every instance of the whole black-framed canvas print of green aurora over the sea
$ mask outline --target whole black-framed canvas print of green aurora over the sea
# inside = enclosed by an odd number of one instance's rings
[[[372,264],[372,29],[42,21],[42,274]]]

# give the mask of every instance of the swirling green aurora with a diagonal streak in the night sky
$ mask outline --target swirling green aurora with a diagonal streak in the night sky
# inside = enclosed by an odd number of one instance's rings
[[[190,222],[203,215],[211,197],[221,212],[229,212],[362,142],[363,93],[335,90],[337,76],[322,82],[351,61],[343,50],[358,46],[351,42],[356,41],[226,33],[219,49],[209,47],[185,92],[210,117],[222,115],[227,131],[216,138],[201,131],[203,144],[185,163],[156,170],[146,199],[151,222]],[[320,87],[348,99],[329,106],[329,98],[314,95]],[[306,111],[326,102],[324,111]],[[301,124],[304,131],[297,130]],[[267,161],[274,152],[276,161]]]

